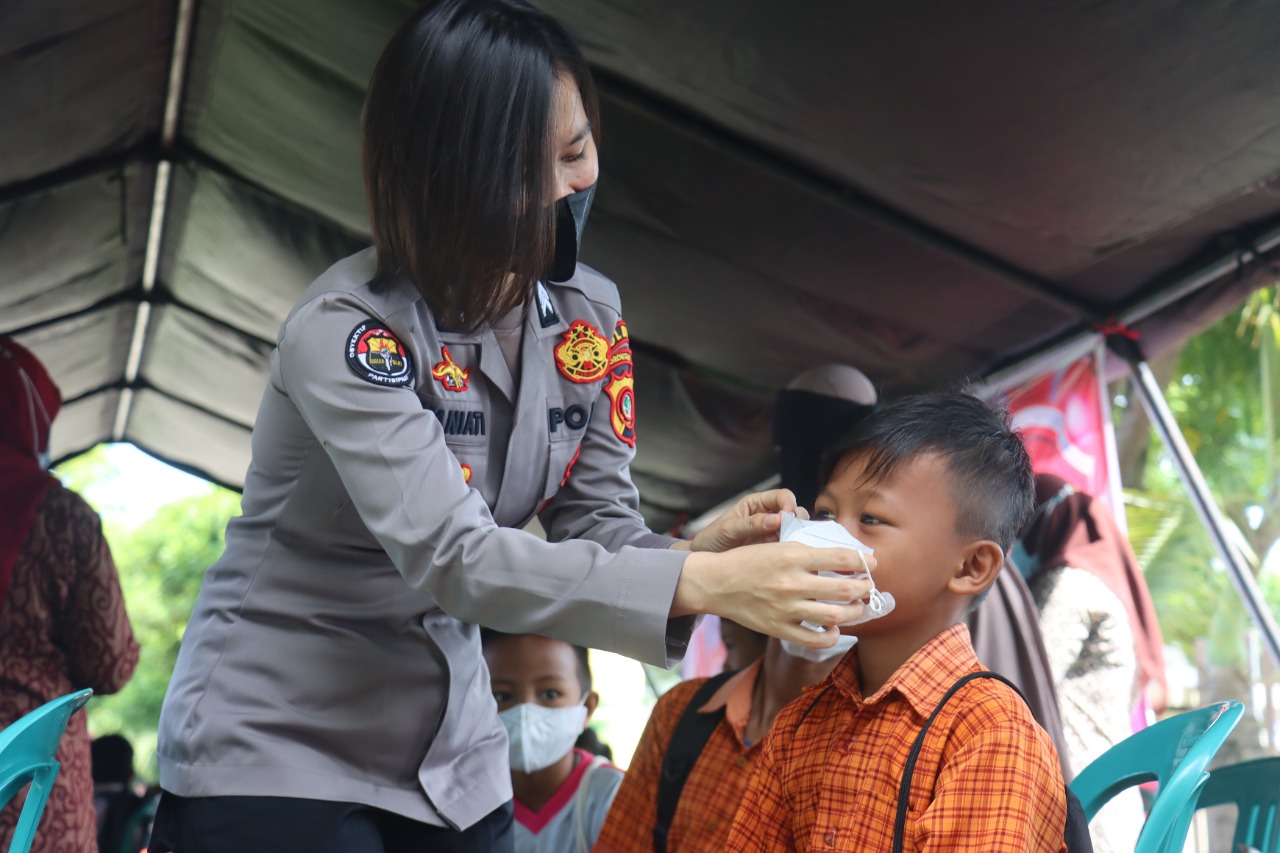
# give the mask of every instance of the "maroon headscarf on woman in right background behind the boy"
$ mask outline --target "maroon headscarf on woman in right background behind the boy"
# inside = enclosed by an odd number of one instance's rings
[[[1037,474],[1036,506],[1042,507],[1061,496],[1066,485],[1060,476]],[[1068,489],[1048,515],[1038,515],[1032,523],[1023,534],[1023,546],[1039,557],[1041,571],[1060,566],[1082,569],[1097,576],[1124,602],[1133,628],[1140,688],[1146,690],[1148,681],[1156,681],[1164,695],[1165,639],[1156,621],[1156,606],[1133,546],[1120,532],[1111,510],[1084,492]]]

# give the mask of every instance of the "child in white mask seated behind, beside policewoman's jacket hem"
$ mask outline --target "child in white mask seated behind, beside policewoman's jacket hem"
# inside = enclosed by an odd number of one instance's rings
[[[511,740],[516,853],[588,853],[622,771],[573,745],[600,701],[586,649],[534,634],[480,639]]]

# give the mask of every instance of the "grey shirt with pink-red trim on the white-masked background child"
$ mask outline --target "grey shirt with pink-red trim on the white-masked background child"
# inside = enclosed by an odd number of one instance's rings
[[[534,811],[516,800],[516,853],[585,853],[599,836],[622,771],[603,758],[593,765],[585,749],[573,752],[573,772],[545,806]]]

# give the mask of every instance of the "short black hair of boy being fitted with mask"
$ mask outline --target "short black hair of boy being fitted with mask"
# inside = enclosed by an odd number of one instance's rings
[[[868,415],[827,451],[822,482],[850,455],[865,455],[863,480],[878,483],[925,453],[941,456],[951,475],[956,533],[991,539],[1007,552],[1036,501],[1032,460],[1009,412],[972,394],[904,397]]]

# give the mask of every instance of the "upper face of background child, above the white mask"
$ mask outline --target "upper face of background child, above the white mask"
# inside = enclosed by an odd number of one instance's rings
[[[566,708],[582,702],[577,654],[563,640],[518,634],[492,640],[484,649],[489,680],[498,710],[529,702],[547,708]],[[596,695],[586,699],[588,716]]]

